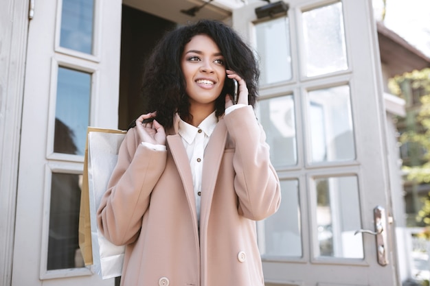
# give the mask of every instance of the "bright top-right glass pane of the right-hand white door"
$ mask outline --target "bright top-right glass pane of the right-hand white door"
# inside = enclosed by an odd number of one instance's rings
[[[306,75],[348,69],[342,3],[303,12]]]

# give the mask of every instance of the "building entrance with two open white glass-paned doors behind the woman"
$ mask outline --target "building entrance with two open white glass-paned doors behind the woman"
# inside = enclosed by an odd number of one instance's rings
[[[83,267],[77,246],[86,128],[139,115],[145,56],[164,31],[199,18],[229,23],[261,60],[256,112],[283,196],[258,222],[266,285],[400,285],[407,275],[385,108],[402,103],[383,97],[371,1],[292,0],[267,16],[256,13],[265,1],[3,1],[1,285],[115,284]],[[181,12],[194,6],[196,16]]]

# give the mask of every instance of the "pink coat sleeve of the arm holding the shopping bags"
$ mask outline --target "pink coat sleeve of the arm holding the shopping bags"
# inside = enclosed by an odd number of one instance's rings
[[[150,193],[166,167],[166,158],[166,151],[139,143],[135,128],[127,132],[97,212],[98,228],[115,245],[131,243],[139,235]]]

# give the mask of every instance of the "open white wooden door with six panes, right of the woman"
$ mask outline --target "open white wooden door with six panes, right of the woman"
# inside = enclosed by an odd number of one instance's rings
[[[258,227],[266,285],[399,285],[372,3],[288,4],[263,19],[264,1],[233,13],[260,56],[258,117],[282,185],[280,211]],[[374,222],[378,239],[354,235]]]

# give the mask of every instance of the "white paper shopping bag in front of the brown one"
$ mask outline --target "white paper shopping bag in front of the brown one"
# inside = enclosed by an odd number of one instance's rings
[[[92,261],[94,271],[104,279],[121,275],[125,247],[113,245],[100,233],[96,213],[117,163],[118,151],[125,134],[122,130],[102,128],[88,128],[87,132]]]

